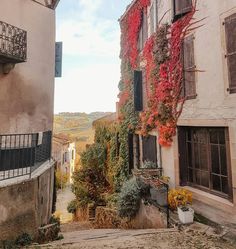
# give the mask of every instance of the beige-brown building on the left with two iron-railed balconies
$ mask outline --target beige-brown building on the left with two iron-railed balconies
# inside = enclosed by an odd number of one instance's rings
[[[1,1],[0,240],[35,235],[52,214],[58,2]]]

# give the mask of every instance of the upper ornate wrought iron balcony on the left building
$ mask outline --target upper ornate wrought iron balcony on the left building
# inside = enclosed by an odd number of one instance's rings
[[[0,21],[0,63],[26,61],[27,32]]]

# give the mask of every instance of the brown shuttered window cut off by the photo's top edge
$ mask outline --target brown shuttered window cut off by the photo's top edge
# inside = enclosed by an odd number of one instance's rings
[[[173,21],[178,20],[192,10],[192,0],[173,0]]]

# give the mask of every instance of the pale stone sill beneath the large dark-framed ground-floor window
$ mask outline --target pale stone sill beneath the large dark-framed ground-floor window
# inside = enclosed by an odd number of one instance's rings
[[[227,205],[229,207],[234,207],[234,204],[231,201],[226,200],[225,198],[222,198],[222,197],[219,197],[217,195],[207,193],[205,191],[202,191],[200,189],[196,189],[196,188],[193,188],[193,187],[190,187],[190,186],[184,186],[184,188],[193,193],[193,198],[194,199],[199,200],[199,201],[201,201],[203,203],[209,204],[210,202],[217,202],[217,203],[220,203],[222,205]]]

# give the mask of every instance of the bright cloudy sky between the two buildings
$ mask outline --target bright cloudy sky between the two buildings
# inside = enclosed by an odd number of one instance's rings
[[[131,0],[61,0],[56,40],[63,42],[54,112],[115,111],[120,79],[119,17]]]

